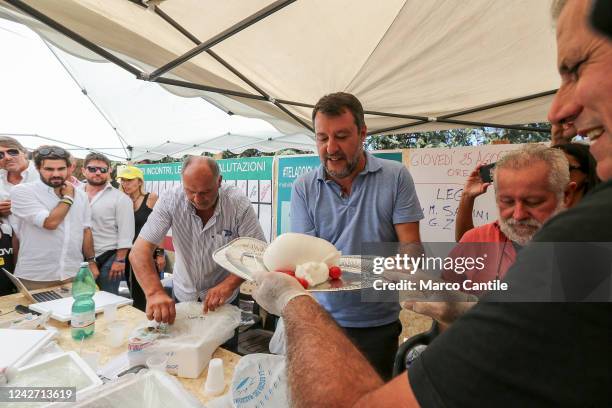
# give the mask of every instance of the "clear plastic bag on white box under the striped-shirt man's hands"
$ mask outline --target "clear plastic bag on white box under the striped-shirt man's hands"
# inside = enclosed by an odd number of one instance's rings
[[[168,356],[166,370],[185,378],[198,378],[214,351],[232,338],[240,324],[240,309],[223,305],[202,313],[202,303],[176,305],[176,319],[167,329],[151,328],[143,322],[128,340],[130,365],[145,364],[148,357]]]

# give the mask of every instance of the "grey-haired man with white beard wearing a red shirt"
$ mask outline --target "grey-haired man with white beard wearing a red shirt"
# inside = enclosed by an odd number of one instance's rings
[[[487,253],[485,268],[461,273],[446,270],[444,280],[502,279],[517,252],[549,218],[568,207],[576,187],[569,177],[568,161],[558,149],[526,145],[503,156],[493,172],[499,219],[467,231],[449,254],[453,258],[475,258]],[[473,243],[483,245],[470,245]]]

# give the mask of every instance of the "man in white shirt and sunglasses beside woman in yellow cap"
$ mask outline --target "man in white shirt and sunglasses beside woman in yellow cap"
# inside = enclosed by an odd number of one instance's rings
[[[110,180],[110,160],[100,153],[89,153],[83,163],[87,193],[91,207],[96,263],[100,268],[101,290],[119,292],[125,273],[125,261],[134,238],[132,200],[114,188]]]

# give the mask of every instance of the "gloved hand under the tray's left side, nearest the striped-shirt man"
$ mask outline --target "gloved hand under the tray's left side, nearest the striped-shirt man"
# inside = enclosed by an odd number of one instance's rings
[[[311,296],[292,276],[281,272],[257,272],[254,274],[257,288],[253,299],[269,313],[281,316],[287,303],[298,296]]]

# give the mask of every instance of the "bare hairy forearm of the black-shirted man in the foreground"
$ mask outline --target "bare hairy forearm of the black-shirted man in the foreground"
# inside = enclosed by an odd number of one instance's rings
[[[292,405],[350,407],[383,385],[365,357],[309,296],[283,311]]]

